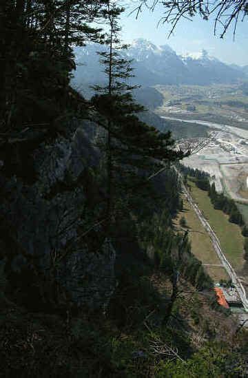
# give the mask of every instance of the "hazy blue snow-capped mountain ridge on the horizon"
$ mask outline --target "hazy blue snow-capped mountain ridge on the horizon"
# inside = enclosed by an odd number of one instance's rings
[[[77,65],[74,79],[81,83],[101,83],[105,81],[103,67],[99,63],[97,51],[105,47],[89,43],[83,48],[76,48]],[[123,56],[133,59],[135,77],[138,85],[188,84],[209,85],[214,83],[237,83],[248,78],[247,67],[227,65],[209,56],[206,50],[198,54],[180,56],[169,45],[156,46],[145,39],[134,40]]]

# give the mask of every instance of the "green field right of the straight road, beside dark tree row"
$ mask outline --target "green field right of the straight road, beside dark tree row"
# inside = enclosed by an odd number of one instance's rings
[[[189,181],[189,185],[192,197],[218,236],[227,260],[237,272],[241,273],[245,260],[243,258],[244,237],[241,234],[240,227],[237,224],[230,223],[229,216],[223,211],[214,209],[207,191],[198,189],[192,181]]]

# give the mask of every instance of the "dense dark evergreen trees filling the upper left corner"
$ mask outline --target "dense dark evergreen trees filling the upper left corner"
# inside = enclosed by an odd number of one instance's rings
[[[83,45],[87,39],[101,40],[100,29],[88,23],[101,17],[103,3],[1,1],[2,133],[23,132],[31,125],[44,131],[56,127],[56,119],[66,115],[76,97],[68,90],[70,72],[75,68],[72,46]],[[79,96],[76,99],[79,101]]]

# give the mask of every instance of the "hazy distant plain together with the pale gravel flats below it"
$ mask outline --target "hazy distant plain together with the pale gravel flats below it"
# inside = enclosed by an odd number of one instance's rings
[[[207,127],[209,140],[183,164],[210,174],[217,191],[240,204],[248,224],[248,97],[235,85],[158,86],[164,96],[156,114],[190,127]],[[195,147],[198,140],[185,140],[182,146]],[[203,140],[200,140],[203,143]]]

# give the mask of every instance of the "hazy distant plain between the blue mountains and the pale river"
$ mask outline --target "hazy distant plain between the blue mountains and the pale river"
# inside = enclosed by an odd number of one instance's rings
[[[248,97],[240,85],[157,85],[164,103],[160,115],[248,128]]]

